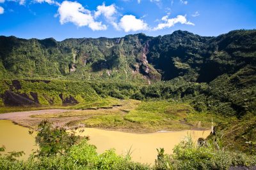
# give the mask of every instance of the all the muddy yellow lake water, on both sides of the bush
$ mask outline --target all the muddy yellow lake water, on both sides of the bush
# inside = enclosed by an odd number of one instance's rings
[[[0,146],[6,146],[6,151],[20,151],[29,156],[31,150],[36,149],[35,136],[28,134],[28,128],[13,124],[9,120],[0,120]],[[206,138],[210,131],[178,131],[135,134],[119,131],[86,128],[81,136],[90,136],[89,143],[97,146],[97,152],[102,153],[115,148],[118,154],[127,154],[131,148],[132,160],[153,164],[157,157],[156,148],[164,148],[166,153],[186,136],[191,135],[194,140]]]

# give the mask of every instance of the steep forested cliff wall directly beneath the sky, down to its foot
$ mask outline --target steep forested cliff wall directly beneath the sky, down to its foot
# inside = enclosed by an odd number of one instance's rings
[[[20,39],[0,36],[0,78],[144,78],[210,82],[255,67],[256,31],[202,37],[186,31],[166,36]]]

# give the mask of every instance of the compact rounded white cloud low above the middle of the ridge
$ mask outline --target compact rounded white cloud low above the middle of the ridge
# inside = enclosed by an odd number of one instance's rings
[[[143,20],[136,18],[134,15],[124,15],[118,23],[118,27],[125,32],[143,31],[148,29],[148,24]]]

